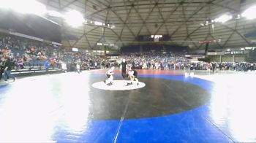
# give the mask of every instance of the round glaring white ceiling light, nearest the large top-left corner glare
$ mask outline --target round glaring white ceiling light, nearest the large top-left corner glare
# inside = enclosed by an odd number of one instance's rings
[[[85,21],[83,18],[83,15],[76,10],[71,10],[67,12],[64,15],[64,19],[70,26],[73,26],[73,27],[81,26]]]

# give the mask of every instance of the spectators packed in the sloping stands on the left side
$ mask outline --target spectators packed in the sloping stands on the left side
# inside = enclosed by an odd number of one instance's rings
[[[109,63],[107,59],[89,53],[71,52],[58,45],[0,34],[0,59],[4,55],[10,55],[15,69],[23,69],[26,65],[43,66],[45,61],[50,61],[52,67],[66,63],[70,70],[75,69],[77,64],[82,69],[89,69]]]

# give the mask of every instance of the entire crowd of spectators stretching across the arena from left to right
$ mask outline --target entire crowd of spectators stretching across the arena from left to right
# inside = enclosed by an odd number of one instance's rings
[[[29,63],[37,63],[44,66],[45,61],[50,62],[52,67],[61,68],[61,63],[67,65],[67,69],[74,71],[76,67],[81,70],[98,67],[102,69],[110,66],[119,66],[118,61],[111,61],[105,56],[95,56],[90,53],[72,52],[64,47],[39,42],[32,39],[0,34],[0,59],[3,55],[10,55],[15,69],[24,69]],[[255,70],[255,63],[206,63],[191,62],[182,54],[170,53],[125,53],[118,55],[119,59],[126,59],[135,69],[155,70]],[[1,60],[0,60],[1,62]]]

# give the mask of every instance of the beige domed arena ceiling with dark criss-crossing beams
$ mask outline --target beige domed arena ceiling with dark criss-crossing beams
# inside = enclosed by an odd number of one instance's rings
[[[255,30],[256,20],[234,18],[255,0],[39,0],[58,12],[75,9],[86,20],[111,23],[115,28],[83,25],[68,26],[64,20],[48,16],[62,26],[63,41],[67,47],[95,50],[97,42],[110,42],[121,47],[138,44],[138,35],[170,35],[167,43],[203,49],[199,41],[212,41],[210,47],[239,47],[251,45],[244,34]],[[206,21],[228,14],[233,19],[226,23]],[[70,35],[74,39],[70,39]],[[117,48],[117,47],[115,47]]]

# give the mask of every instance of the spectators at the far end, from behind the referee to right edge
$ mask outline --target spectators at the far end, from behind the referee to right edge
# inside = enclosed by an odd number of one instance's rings
[[[254,71],[256,63],[246,62],[203,62],[189,61],[184,55],[162,54],[162,53],[129,53],[121,55],[121,58],[132,63],[136,69],[169,69],[169,70],[236,70],[236,71]]]

